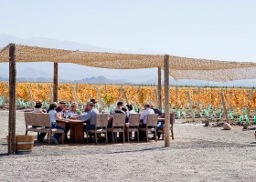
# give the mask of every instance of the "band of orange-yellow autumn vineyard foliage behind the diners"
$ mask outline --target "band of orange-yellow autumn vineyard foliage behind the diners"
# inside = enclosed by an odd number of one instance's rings
[[[17,103],[31,101],[52,101],[52,84],[50,83],[18,83],[16,85]],[[256,90],[253,88],[211,88],[211,87],[170,87],[170,106],[180,111],[192,108],[197,113],[206,109],[222,111],[220,93],[226,101],[229,113],[237,116],[247,115],[256,108]],[[59,84],[59,100],[69,103],[84,104],[91,98],[99,100],[102,106],[114,106],[117,101],[132,104],[141,108],[144,103],[157,105],[157,88],[155,86],[117,86],[89,84]],[[7,103],[8,84],[0,83],[0,106]],[[162,102],[165,102],[164,88]],[[190,106],[189,106],[190,103]],[[164,106],[164,105],[163,105]]]

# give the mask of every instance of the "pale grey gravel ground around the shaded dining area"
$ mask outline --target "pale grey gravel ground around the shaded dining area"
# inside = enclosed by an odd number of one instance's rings
[[[8,113],[0,111],[0,181],[255,181],[255,128],[179,124],[170,147],[156,143],[36,145],[7,156]],[[16,135],[25,133],[16,113]],[[34,135],[33,133],[30,133]]]

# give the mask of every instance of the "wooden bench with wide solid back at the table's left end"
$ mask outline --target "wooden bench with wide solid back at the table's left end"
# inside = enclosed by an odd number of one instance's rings
[[[55,133],[62,133],[62,144],[64,143],[65,135],[62,129],[56,129],[51,127],[50,119],[48,114],[44,113],[24,113],[25,125],[26,125],[26,136],[27,132],[37,132],[48,134],[48,144],[50,144],[50,136]]]

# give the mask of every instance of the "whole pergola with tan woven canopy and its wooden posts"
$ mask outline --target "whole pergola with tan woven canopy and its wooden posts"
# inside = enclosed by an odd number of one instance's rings
[[[137,55],[72,51],[27,45],[6,45],[0,49],[0,62],[9,60],[9,141],[8,153],[15,153],[16,62],[54,63],[54,101],[58,101],[58,63],[73,63],[111,69],[158,67],[158,108],[162,108],[161,70],[165,70],[165,121],[170,118],[169,76],[175,79],[232,81],[256,78],[256,63],[226,62],[178,56]],[[165,147],[170,145],[169,122],[165,122]]]

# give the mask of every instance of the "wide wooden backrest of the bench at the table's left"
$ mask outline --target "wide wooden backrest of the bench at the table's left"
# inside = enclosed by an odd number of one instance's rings
[[[25,124],[28,126],[51,127],[49,115],[45,113],[24,113]]]

